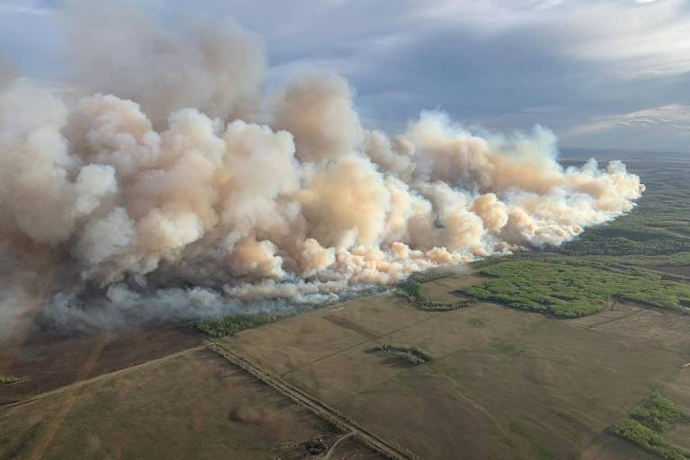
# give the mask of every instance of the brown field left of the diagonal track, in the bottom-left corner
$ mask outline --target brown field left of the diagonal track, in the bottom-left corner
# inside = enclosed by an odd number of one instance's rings
[[[342,434],[208,349],[192,349],[0,411],[0,458],[297,459]],[[378,458],[346,440],[332,458]],[[337,454],[337,455],[336,455]]]

